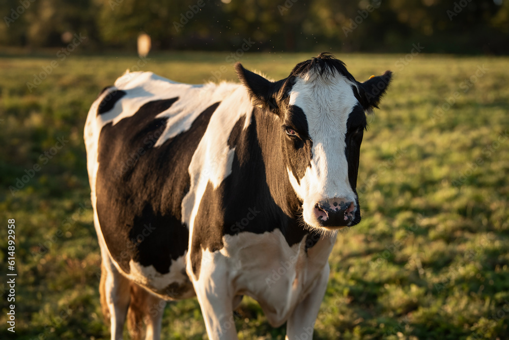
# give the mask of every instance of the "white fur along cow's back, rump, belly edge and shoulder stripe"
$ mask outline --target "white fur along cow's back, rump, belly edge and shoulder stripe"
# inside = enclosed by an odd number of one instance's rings
[[[97,109],[101,101],[117,90],[125,91],[126,95],[111,110],[98,116]],[[98,140],[104,125],[110,122],[115,125],[122,119],[133,116],[141,106],[150,101],[175,97],[179,97],[179,99],[157,116],[158,118],[168,118],[168,122],[154,147],[159,147],[168,138],[187,131],[203,110],[216,102],[221,102],[214,112],[213,119],[211,119],[202,143],[196,150],[189,167],[192,184],[182,204],[182,215],[183,222],[191,226],[189,239],[192,239],[194,215],[191,215],[192,209],[189,209],[189,207],[194,207],[197,210],[208,181],[212,182],[214,187],[217,187],[231,173],[234,150],[228,148],[228,136],[234,124],[242,116],[246,116],[244,127],[247,127],[250,123],[252,107],[249,104],[245,88],[240,84],[228,82],[209,83],[205,86],[190,85],[165,79],[152,72],[126,72],[117,79],[115,87],[107,89],[95,100],[90,108],[84,128],[91,200],[94,207],[94,225],[103,257],[106,256],[110,259],[118,272],[138,285],[156,291],[160,291],[171,282],[184,282],[185,277],[182,274],[182,269],[186,268],[189,254],[186,253],[177,261],[173,261],[170,272],[164,275],[158,273],[153,266],[144,267],[134,261],[130,262],[130,274],[127,274],[123,272],[116,261],[112,260],[95,209],[97,204],[95,188],[99,168]],[[189,204],[186,205],[186,202]],[[189,277],[191,278],[191,275]],[[112,286],[110,289],[113,289]],[[193,295],[194,293],[191,291],[189,294]]]

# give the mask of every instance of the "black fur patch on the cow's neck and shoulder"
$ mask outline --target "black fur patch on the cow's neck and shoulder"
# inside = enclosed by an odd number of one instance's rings
[[[297,222],[300,202],[288,180],[275,119],[255,108],[251,124],[243,130],[242,117],[230,133],[228,144],[235,148],[232,174],[215,190],[207,185],[195,219],[191,261],[197,277],[201,249],[222,248],[223,235],[279,229],[291,246],[309,233]],[[306,246],[312,247],[319,238],[312,233],[308,239]]]

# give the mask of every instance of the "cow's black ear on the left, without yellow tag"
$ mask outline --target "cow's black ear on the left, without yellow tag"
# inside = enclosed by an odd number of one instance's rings
[[[265,79],[259,74],[246,70],[242,64],[235,64],[240,82],[247,88],[251,104],[277,112],[276,95],[278,82]]]

